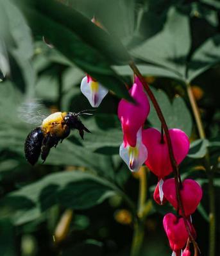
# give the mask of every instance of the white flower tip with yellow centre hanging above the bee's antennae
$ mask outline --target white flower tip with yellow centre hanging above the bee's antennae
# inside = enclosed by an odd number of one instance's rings
[[[89,103],[92,107],[99,107],[103,98],[105,98],[108,90],[98,83],[94,78],[87,75],[83,80],[81,80],[80,86],[81,92],[89,100]]]

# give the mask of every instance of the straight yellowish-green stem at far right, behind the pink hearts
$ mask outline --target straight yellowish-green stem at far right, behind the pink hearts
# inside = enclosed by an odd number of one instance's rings
[[[192,93],[192,88],[189,83],[187,83],[187,94],[189,96],[190,105],[192,107],[192,112],[196,120],[196,126],[198,128],[199,137],[205,139],[205,130],[203,128],[203,123],[201,121],[201,115],[199,113],[199,108],[196,103],[196,99]],[[210,160],[207,149],[207,154],[204,158],[205,169],[208,176],[208,196],[209,196],[209,256],[216,255],[216,205],[215,205],[215,189],[214,189],[214,168],[210,168]]]

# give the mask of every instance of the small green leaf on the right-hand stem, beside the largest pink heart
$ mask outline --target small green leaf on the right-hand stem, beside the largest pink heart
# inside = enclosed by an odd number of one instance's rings
[[[190,144],[188,157],[190,158],[203,158],[207,153],[209,142],[207,139],[198,139]]]

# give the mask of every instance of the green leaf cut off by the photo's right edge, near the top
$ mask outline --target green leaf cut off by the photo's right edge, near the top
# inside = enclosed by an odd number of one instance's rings
[[[208,38],[192,55],[187,80],[194,80],[199,74],[220,62],[220,35]]]

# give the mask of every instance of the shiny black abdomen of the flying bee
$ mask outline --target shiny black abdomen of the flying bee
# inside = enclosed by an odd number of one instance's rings
[[[44,133],[42,132],[40,127],[37,127],[34,130],[32,130],[26,138],[24,144],[24,153],[26,159],[28,160],[28,162],[30,162],[30,164],[32,164],[32,166],[36,164],[40,156],[40,150],[43,139]]]

